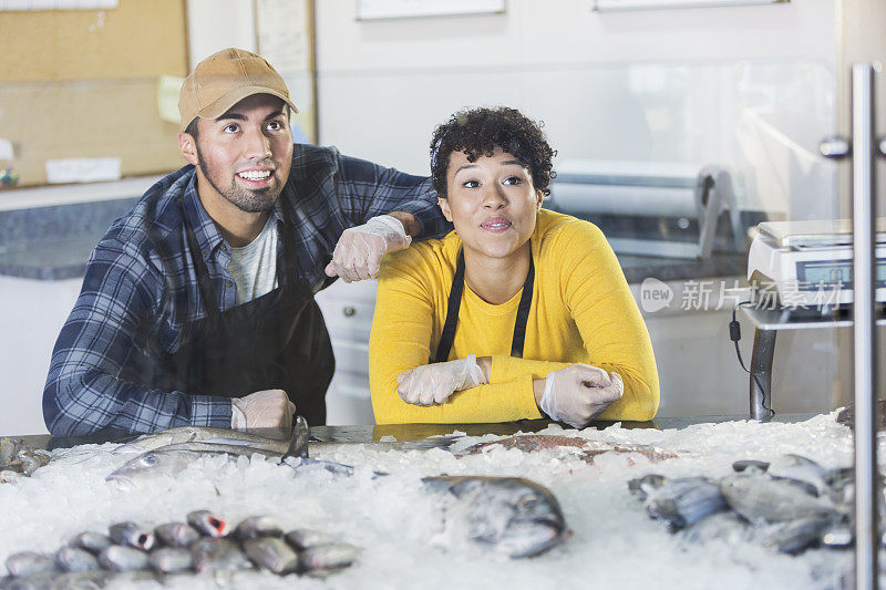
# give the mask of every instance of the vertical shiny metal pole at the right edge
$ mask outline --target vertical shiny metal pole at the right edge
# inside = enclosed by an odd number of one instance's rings
[[[855,587],[877,588],[874,403],[874,72],[852,69],[853,318],[855,369]]]

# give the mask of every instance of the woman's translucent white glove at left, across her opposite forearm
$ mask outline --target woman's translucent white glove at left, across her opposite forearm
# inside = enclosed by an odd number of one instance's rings
[[[396,393],[408,404],[442,404],[456,391],[486,384],[475,354],[465,359],[410,369],[396,375]]]

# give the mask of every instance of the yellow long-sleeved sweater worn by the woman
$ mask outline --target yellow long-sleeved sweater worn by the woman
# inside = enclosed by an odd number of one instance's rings
[[[387,256],[379,275],[369,339],[369,385],[375,422],[474,423],[539,418],[533,379],[573,363],[619,373],[625,395],[600,420],[651,420],[659,402],[652,344],[625,275],[593,224],[547,209],[532,236],[535,288],[523,359],[511,342],[521,289],[493,306],[465,283],[449,360],[492,356],[488,385],[456,392],[446,403],[403,402],[396,375],[429,363],[446,315],[462,241],[453,231]]]

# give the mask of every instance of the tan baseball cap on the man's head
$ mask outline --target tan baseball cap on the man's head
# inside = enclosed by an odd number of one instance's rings
[[[218,118],[253,94],[277,96],[298,113],[280,74],[260,55],[237,48],[213,53],[194,68],[178,95],[181,131],[196,117]]]

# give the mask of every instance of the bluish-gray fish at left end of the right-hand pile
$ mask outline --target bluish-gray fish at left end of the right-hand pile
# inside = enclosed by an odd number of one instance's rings
[[[667,479],[646,498],[646,511],[668,522],[671,531],[694,525],[727,508],[720,487],[705,477]]]

